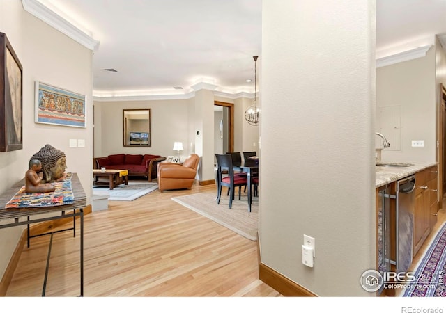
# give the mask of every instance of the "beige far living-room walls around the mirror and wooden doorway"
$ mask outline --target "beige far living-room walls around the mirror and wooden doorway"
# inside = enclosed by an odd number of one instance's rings
[[[180,153],[183,159],[191,153],[203,157],[203,151],[206,152],[204,163],[201,160],[199,179],[212,180],[214,101],[234,104],[234,151],[258,151],[252,143],[259,141],[259,127],[248,125],[244,117],[252,99],[229,99],[215,96],[210,90],[199,90],[194,97],[182,100],[95,101],[94,156],[128,153],[167,157],[176,155],[172,150],[174,142],[181,141],[185,149]],[[123,147],[123,109],[151,109],[151,147]]]

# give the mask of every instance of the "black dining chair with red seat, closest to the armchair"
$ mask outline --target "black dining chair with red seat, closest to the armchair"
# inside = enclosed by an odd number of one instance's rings
[[[238,200],[241,200],[241,188],[247,186],[246,176],[234,175],[233,162],[231,154],[215,154],[217,159],[217,204],[220,204],[222,198],[222,187],[229,188],[229,209],[232,208],[235,189],[238,187]],[[227,175],[224,176],[224,171]]]

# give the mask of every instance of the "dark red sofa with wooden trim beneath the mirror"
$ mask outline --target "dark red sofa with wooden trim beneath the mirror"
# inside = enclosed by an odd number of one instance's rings
[[[109,170],[128,170],[129,176],[145,176],[148,181],[157,177],[158,162],[166,158],[153,154],[110,154],[93,160],[93,168]]]

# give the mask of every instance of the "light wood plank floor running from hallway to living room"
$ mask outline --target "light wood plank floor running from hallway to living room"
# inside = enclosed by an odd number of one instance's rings
[[[281,296],[259,280],[255,241],[171,200],[200,191],[215,185],[86,215],[84,296]],[[25,245],[6,296],[42,295],[48,247],[49,236]],[[51,255],[46,296],[79,296],[79,236],[54,234]]]

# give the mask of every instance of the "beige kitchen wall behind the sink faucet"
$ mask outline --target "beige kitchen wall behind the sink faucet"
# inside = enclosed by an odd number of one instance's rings
[[[436,89],[435,47],[422,58],[376,69],[377,109],[398,106],[400,110],[395,114],[395,118],[399,115],[399,127],[384,123],[382,129],[387,130],[376,129],[385,136],[396,131],[400,134],[399,150],[394,150],[397,143],[392,144],[389,138],[390,149],[382,150],[382,161],[436,161]],[[376,125],[383,124],[383,118],[388,115],[377,114]],[[413,140],[424,140],[424,147],[412,147]]]

